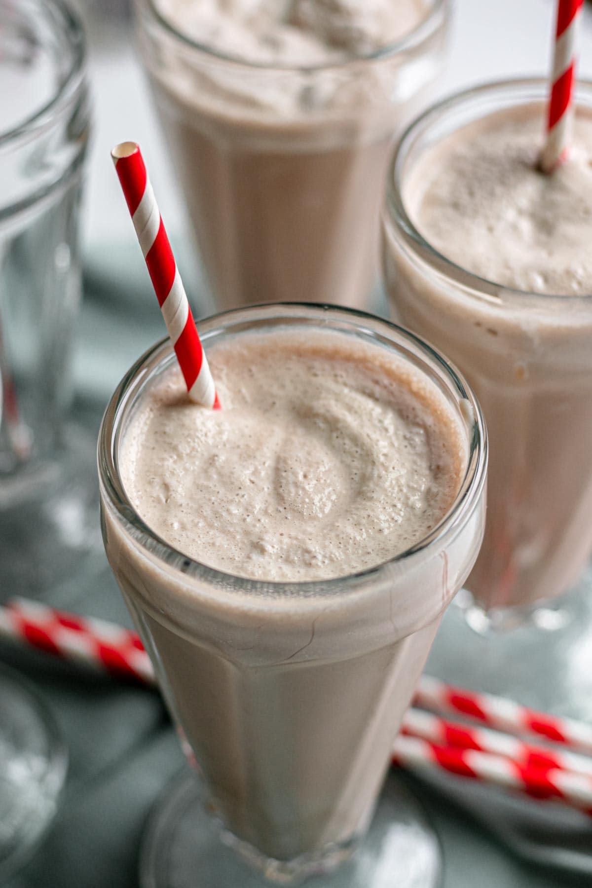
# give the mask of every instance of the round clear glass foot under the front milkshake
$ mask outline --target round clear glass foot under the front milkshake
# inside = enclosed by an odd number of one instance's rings
[[[349,860],[330,872],[282,879],[281,867],[273,866],[277,861],[269,861],[272,866],[267,871],[276,876],[270,879],[242,860],[227,836],[208,811],[201,781],[184,772],[167,789],[149,822],[140,855],[141,888],[269,888],[277,884],[436,888],[440,880],[438,838],[418,802],[393,773],[385,782],[367,835],[348,855]]]

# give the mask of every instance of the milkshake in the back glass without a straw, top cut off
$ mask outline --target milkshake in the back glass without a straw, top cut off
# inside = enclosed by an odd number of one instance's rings
[[[438,75],[447,0],[137,9],[217,305],[364,305],[391,140]]]

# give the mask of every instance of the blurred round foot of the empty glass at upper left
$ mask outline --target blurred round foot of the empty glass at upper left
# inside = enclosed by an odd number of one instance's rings
[[[96,442],[70,426],[51,458],[0,478],[0,599],[60,586],[100,549]]]

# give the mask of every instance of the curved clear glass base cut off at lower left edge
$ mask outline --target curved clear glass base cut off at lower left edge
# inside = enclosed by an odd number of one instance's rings
[[[59,730],[27,682],[0,667],[0,883],[51,824],[67,770]]]

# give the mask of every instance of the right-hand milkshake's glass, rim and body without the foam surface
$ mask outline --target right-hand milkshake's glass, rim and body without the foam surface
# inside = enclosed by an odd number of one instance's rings
[[[568,590],[586,565],[592,295],[512,289],[454,263],[418,230],[410,182],[426,151],[487,115],[540,115],[542,142],[547,93],[546,81],[532,79],[446,99],[406,131],[388,178],[383,261],[393,312],[466,374],[491,440],[485,541],[467,583],[475,626],[536,622],[551,613],[541,604]],[[578,85],[576,99],[580,115],[592,112],[589,83]]]

